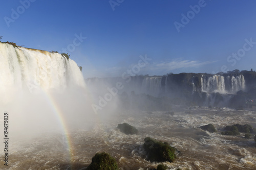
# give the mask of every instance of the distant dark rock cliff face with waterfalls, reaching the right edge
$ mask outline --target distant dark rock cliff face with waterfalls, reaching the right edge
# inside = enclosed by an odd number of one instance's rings
[[[103,89],[102,92],[121,82],[123,88],[118,90],[118,94],[146,94],[155,98],[173,99],[174,104],[235,107],[244,105],[247,99],[256,99],[254,71],[222,75],[181,73],[167,76],[91,78],[86,81],[89,88],[98,86]]]

